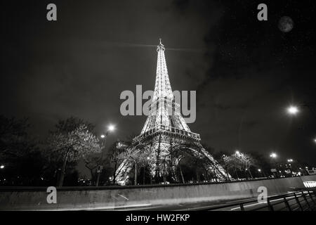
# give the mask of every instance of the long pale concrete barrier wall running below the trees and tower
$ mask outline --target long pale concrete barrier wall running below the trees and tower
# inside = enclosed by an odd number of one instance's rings
[[[1,187],[0,210],[114,209],[134,205],[236,200],[257,197],[259,186],[268,188],[268,195],[277,195],[305,188],[304,181],[316,181],[316,175],[220,184],[62,187],[57,188],[56,204],[47,203],[46,187]]]

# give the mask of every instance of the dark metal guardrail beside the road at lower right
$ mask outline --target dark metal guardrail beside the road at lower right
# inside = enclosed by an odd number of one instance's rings
[[[239,201],[227,205],[203,208],[204,211],[316,211],[316,189],[274,195],[265,202],[256,200]]]

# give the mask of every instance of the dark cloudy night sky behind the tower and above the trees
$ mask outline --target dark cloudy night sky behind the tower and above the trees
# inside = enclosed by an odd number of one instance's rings
[[[189,124],[216,150],[275,151],[316,163],[315,1],[1,1],[0,114],[29,117],[44,139],[71,115],[140,134],[121,91],[154,89],[159,37],[173,90],[197,91]],[[58,20],[46,20],[46,5]],[[268,5],[268,21],[257,6]],[[294,20],[281,32],[278,20]],[[289,116],[286,108],[300,106]],[[110,144],[109,144],[110,145]]]

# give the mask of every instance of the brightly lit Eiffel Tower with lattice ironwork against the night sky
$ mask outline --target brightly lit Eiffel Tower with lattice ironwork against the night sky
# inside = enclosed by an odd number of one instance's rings
[[[173,181],[180,181],[176,177],[176,167],[181,160],[181,153],[189,152],[193,157],[209,161],[209,167],[218,179],[225,179],[225,170],[203,148],[199,134],[190,131],[184,118],[180,114],[180,104],[176,103],[171,89],[166,58],[165,47],[162,39],[157,46],[157,72],[154,85],[154,95],[149,107],[150,114],[139,136],[133,139],[128,146],[133,153],[147,153],[150,163],[150,174],[157,180],[166,175],[172,176]],[[177,154],[178,153],[178,154]],[[178,155],[180,157],[172,157]],[[116,172],[117,184],[126,184],[128,174],[133,168],[133,162],[125,159]],[[228,174],[228,176],[230,176]]]

